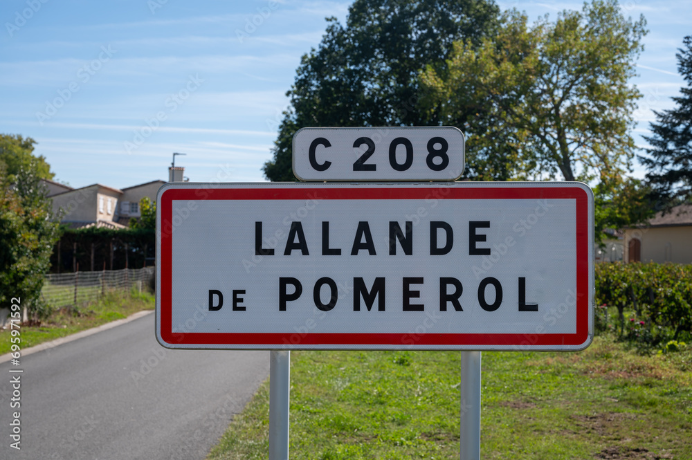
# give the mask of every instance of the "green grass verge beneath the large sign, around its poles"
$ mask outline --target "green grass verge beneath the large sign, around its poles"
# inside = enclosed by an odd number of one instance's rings
[[[458,352],[294,351],[291,459],[458,459]],[[482,353],[483,459],[692,459],[692,349]],[[209,460],[268,454],[268,383]]]

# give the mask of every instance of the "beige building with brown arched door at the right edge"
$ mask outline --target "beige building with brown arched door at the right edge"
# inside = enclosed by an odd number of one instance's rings
[[[692,264],[692,205],[659,212],[644,225],[623,232],[628,262]]]

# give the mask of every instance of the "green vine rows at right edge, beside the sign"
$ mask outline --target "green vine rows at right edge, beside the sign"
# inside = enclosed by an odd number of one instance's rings
[[[692,266],[597,264],[597,326],[607,329],[606,308],[619,313],[619,335],[641,349],[692,333]],[[630,309],[632,317],[626,318]],[[602,312],[602,313],[601,313]]]

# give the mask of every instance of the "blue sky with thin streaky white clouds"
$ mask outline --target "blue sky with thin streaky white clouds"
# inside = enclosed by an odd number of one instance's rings
[[[351,2],[3,0],[0,132],[37,140],[56,179],[129,187],[167,179],[172,153],[190,181],[262,182],[300,57],[325,17]],[[531,19],[582,3],[500,2]],[[692,1],[621,2],[648,21],[632,81],[652,109],[673,107],[675,53],[692,34]],[[635,176],[643,170],[635,167]]]

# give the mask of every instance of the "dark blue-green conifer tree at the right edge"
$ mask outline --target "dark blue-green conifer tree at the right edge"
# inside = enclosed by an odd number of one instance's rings
[[[673,98],[675,108],[655,111],[650,123],[652,136],[648,157],[639,157],[647,167],[646,178],[656,199],[668,204],[692,200],[692,36],[683,39],[677,57],[677,70],[687,83],[680,96]]]

